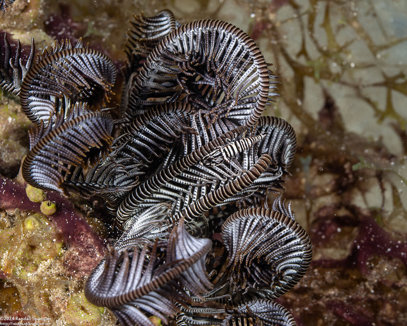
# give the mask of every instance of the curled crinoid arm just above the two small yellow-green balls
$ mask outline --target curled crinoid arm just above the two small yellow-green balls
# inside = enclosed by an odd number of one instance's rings
[[[112,128],[113,119],[104,112],[90,112],[63,123],[31,148],[22,164],[24,179],[33,187],[66,194],[63,183],[71,167],[86,168],[88,163],[96,163],[99,152],[107,154]]]

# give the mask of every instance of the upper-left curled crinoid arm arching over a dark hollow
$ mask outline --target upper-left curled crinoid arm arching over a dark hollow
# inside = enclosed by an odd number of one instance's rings
[[[116,68],[106,55],[69,40],[44,48],[21,86],[21,106],[33,123],[69,115],[75,104],[93,110],[109,101]]]

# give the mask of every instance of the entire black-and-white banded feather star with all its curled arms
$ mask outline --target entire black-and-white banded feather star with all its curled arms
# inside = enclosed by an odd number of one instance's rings
[[[311,261],[311,242],[278,196],[293,128],[262,117],[276,76],[237,27],[136,16],[120,117],[106,108],[116,69],[64,41],[21,55],[6,35],[1,86],[35,124],[22,173],[30,185],[103,198],[123,235],[85,295],[121,325],[295,325],[272,301]],[[114,135],[114,137],[112,136]],[[221,308],[222,307],[222,308]]]

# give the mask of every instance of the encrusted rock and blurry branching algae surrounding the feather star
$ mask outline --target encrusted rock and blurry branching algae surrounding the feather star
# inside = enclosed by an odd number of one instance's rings
[[[162,9],[182,24],[238,26],[282,77],[265,115],[297,134],[284,198],[311,237],[313,261],[276,301],[298,326],[406,325],[407,2],[16,0],[0,13],[0,29],[23,45],[34,36],[37,49],[83,37],[120,69],[128,20]],[[120,86],[119,77],[111,107]],[[17,175],[31,123],[17,97],[0,94],[0,316],[113,325],[112,313],[83,296],[113,221],[96,200],[47,192],[57,203],[50,218],[28,200]]]

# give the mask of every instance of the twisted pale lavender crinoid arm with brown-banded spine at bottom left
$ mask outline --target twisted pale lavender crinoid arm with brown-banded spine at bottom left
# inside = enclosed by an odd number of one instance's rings
[[[175,316],[175,303],[190,299],[184,289],[200,295],[212,284],[204,271],[209,239],[189,235],[181,221],[168,240],[153,245],[134,238],[132,246],[109,248],[89,275],[85,295],[112,310],[122,326],[153,326],[152,314],[166,324]]]

